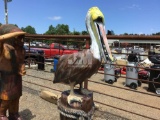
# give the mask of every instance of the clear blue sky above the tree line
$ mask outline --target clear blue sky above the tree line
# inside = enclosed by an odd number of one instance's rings
[[[12,0],[7,6],[9,24],[30,25],[37,34],[57,24],[86,31],[85,17],[94,6],[104,14],[106,30],[116,35],[160,32],[160,0]],[[0,23],[5,24],[4,18],[4,0],[0,0]]]

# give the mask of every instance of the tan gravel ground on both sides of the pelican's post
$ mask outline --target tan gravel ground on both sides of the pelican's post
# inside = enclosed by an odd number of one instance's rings
[[[46,64],[45,71],[37,67],[27,69],[23,76],[23,95],[20,99],[20,115],[24,120],[59,120],[57,106],[42,99],[42,90],[60,95],[69,86],[53,84],[54,74],[50,72],[53,66]],[[147,91],[147,84],[142,84],[137,90],[124,86],[125,79],[118,78],[112,85],[103,81],[104,75],[93,75],[88,89],[94,91],[94,101],[99,105],[95,111],[94,120],[151,120],[160,119],[160,99],[155,93]],[[94,83],[94,82],[98,82]]]

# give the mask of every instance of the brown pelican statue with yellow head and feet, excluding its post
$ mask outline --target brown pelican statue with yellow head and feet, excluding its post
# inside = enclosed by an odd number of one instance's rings
[[[105,61],[114,61],[106,38],[104,16],[98,7],[89,9],[86,16],[86,27],[91,37],[90,49],[62,55],[59,58],[53,80],[53,83],[70,86],[70,94],[67,97],[69,105],[72,101],[82,102],[82,96],[74,92],[74,86],[79,84],[79,89],[82,89],[83,81],[98,71],[102,56]],[[107,52],[107,57],[105,52]]]

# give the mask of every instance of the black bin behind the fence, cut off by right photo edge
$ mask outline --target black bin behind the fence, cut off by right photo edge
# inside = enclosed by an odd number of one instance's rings
[[[151,70],[150,70],[149,81],[159,82],[159,84],[149,82],[148,91],[156,92],[156,89],[160,88],[160,64],[153,65],[150,68]],[[159,69],[159,70],[153,70],[153,69]]]

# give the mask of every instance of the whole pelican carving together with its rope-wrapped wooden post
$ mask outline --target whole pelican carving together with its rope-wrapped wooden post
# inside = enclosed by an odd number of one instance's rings
[[[91,37],[90,49],[60,57],[53,83],[63,83],[70,86],[70,91],[64,91],[58,100],[58,108],[63,116],[79,119],[92,119],[93,94],[82,89],[82,83],[95,74],[102,61],[114,61],[106,38],[103,13],[97,7],[89,9],[86,16],[86,27]],[[107,54],[107,57],[106,55]],[[74,87],[80,84],[80,89]],[[87,114],[87,115],[86,115]],[[64,120],[65,117],[61,119]]]

